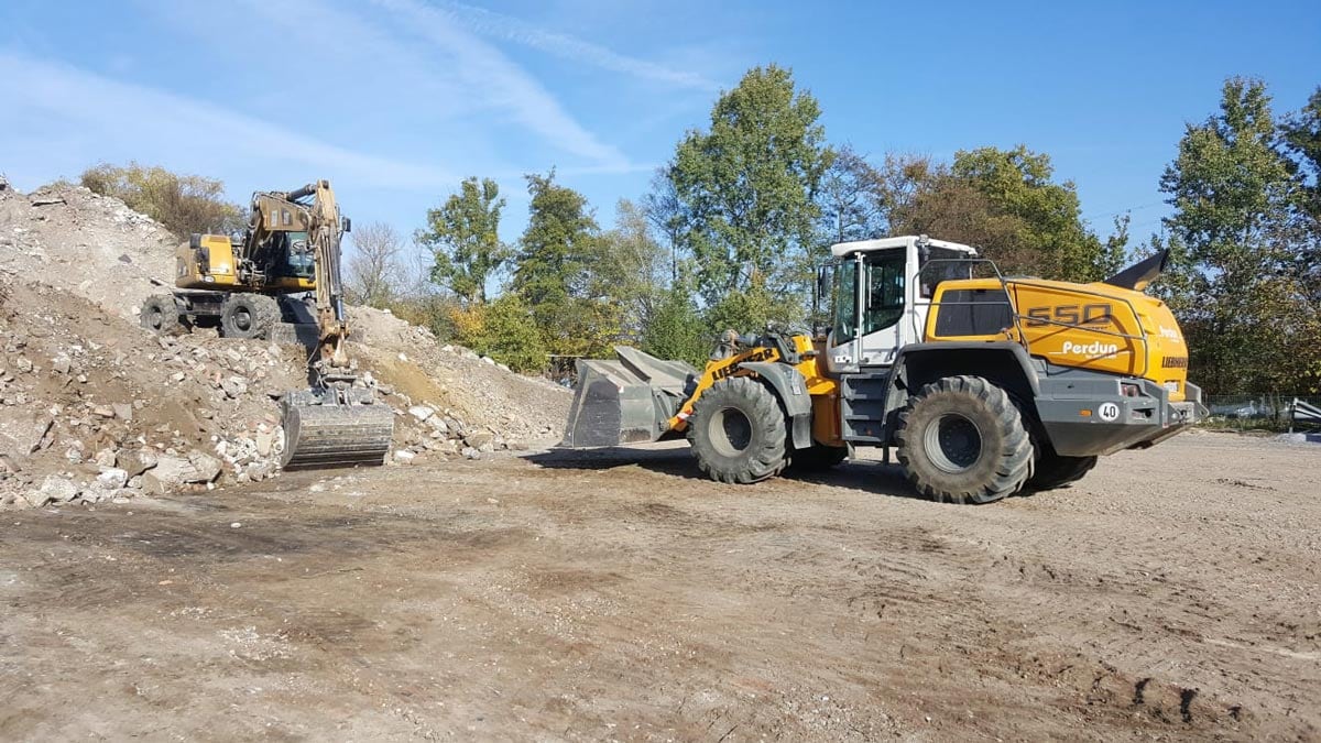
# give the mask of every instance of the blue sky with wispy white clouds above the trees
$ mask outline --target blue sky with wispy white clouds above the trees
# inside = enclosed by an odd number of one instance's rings
[[[21,189],[98,161],[254,189],[329,177],[358,223],[411,234],[468,175],[526,222],[556,167],[604,225],[721,89],[777,62],[827,136],[948,157],[1024,143],[1103,234],[1165,212],[1157,178],[1227,75],[1277,111],[1321,85],[1321,11],[1258,3],[446,0],[0,4],[0,172]]]

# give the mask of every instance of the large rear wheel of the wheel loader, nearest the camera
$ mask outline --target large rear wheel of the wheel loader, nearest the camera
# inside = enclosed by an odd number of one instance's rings
[[[1032,475],[1032,439],[1005,391],[982,377],[945,377],[900,412],[898,460],[923,496],[988,504]]]

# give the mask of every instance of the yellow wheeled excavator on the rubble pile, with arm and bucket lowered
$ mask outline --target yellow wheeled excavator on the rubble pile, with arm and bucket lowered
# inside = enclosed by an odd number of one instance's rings
[[[345,346],[339,241],[350,227],[330,181],[259,192],[240,237],[192,235],[174,253],[173,291],[143,304],[143,327],[157,333],[211,323],[221,336],[256,338],[306,312],[297,295],[314,297],[310,386],[280,402],[285,469],[376,465],[390,451],[394,414],[362,385]]]

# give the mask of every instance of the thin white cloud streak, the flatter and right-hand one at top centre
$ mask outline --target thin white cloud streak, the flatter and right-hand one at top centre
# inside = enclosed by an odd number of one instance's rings
[[[720,90],[719,83],[699,74],[674,70],[655,62],[620,54],[605,46],[572,36],[552,33],[513,16],[485,8],[474,8],[462,3],[446,3],[444,12],[452,15],[477,33],[531,46],[575,62],[679,87],[691,87],[707,93]]]

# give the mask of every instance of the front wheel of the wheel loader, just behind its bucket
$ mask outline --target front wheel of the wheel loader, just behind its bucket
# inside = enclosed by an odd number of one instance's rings
[[[694,403],[688,443],[712,480],[757,483],[779,475],[787,461],[785,412],[754,379],[721,379]]]

